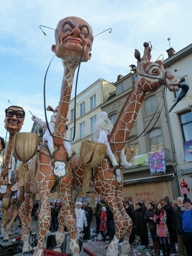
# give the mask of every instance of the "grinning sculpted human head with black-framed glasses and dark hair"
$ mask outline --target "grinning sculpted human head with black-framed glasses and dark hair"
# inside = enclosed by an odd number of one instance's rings
[[[22,128],[25,119],[25,111],[17,106],[11,106],[6,109],[5,129],[9,134],[15,134]]]

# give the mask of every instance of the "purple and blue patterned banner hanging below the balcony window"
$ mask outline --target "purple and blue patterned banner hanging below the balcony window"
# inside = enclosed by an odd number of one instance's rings
[[[163,149],[148,152],[149,167],[151,175],[165,174],[165,152]]]

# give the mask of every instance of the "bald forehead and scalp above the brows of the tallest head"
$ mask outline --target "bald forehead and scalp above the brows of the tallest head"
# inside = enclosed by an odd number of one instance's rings
[[[88,29],[89,35],[91,37],[93,36],[93,29],[89,25],[89,23],[87,23],[87,21],[85,21],[79,17],[73,17],[73,16],[66,17],[58,22],[58,25],[57,25],[58,32],[60,32],[63,29],[63,26],[65,25],[66,21],[69,21],[69,23],[70,22],[73,23],[75,25],[75,27],[86,26]]]

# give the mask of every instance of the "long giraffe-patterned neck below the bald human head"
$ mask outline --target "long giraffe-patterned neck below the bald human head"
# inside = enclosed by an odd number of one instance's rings
[[[67,66],[67,65],[66,65]],[[65,67],[64,77],[61,86],[61,97],[58,105],[58,114],[55,121],[54,129],[54,143],[58,145],[63,144],[65,124],[67,122],[67,113],[69,109],[69,102],[71,91],[73,87],[73,78],[75,74],[75,67]]]

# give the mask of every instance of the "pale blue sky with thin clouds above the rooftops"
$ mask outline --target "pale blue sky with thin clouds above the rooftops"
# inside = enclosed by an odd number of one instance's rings
[[[54,30],[42,28],[45,37],[40,25],[55,29],[64,17],[77,16],[92,26],[94,35],[113,29],[111,35],[107,31],[95,37],[90,61],[81,64],[80,93],[99,78],[115,82],[119,74],[127,75],[129,65],[137,65],[134,49],[143,56],[144,42],[151,41],[154,61],[160,54],[167,58],[167,38],[175,52],[191,44],[191,13],[191,0],[0,0],[0,136],[6,137],[4,110],[10,105],[26,111],[23,132],[33,125],[29,111],[45,120],[44,77],[55,40]],[[62,76],[63,65],[55,57],[46,82],[46,105],[53,108]]]

